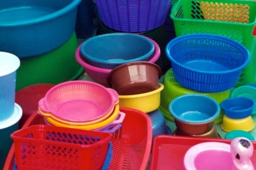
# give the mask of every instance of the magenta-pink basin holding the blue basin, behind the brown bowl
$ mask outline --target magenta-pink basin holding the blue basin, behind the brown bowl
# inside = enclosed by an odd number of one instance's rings
[[[146,37],[148,38],[148,37]],[[151,56],[150,60],[148,60],[148,62],[152,62],[152,63],[155,63],[159,57],[160,57],[160,54],[161,54],[161,51],[160,51],[160,47],[159,45],[156,43],[156,41],[154,41],[153,39],[151,38],[148,38],[150,39],[154,46],[155,46],[155,52],[154,54]],[[110,74],[110,71],[112,69],[108,69],[108,68],[100,68],[100,67],[96,67],[96,66],[93,66],[93,65],[90,65],[88,64],[87,62],[83,61],[82,60],[82,55],[80,54],[80,48],[81,48],[81,45],[79,45],[76,49],[76,53],[75,53],[75,57],[76,57],[76,61],[81,65],[83,66],[84,70],[86,70],[87,74],[95,81],[99,82],[99,83],[102,83],[102,84],[108,84],[108,81],[107,81],[107,78]]]

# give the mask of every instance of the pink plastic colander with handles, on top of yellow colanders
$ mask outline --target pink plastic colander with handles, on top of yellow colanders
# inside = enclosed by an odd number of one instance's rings
[[[89,81],[68,81],[51,88],[38,102],[48,116],[74,123],[91,122],[112,113],[119,96],[110,88]],[[44,115],[45,116],[45,115]]]

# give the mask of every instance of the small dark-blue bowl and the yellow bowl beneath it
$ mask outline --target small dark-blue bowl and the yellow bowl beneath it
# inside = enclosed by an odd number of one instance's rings
[[[225,112],[221,129],[225,132],[243,130],[249,132],[254,129],[255,122],[251,117],[255,103],[244,97],[226,99],[221,103]]]

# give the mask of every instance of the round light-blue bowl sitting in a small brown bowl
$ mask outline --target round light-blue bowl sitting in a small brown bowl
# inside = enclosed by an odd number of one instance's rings
[[[202,124],[217,118],[220,105],[203,94],[185,94],[170,102],[169,111],[180,122]]]

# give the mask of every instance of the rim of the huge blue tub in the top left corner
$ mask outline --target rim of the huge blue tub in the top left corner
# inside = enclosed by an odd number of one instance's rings
[[[73,10],[75,7],[77,7],[80,3],[81,3],[82,0],[73,0],[70,2],[69,5],[67,5],[66,7],[58,10],[58,11],[55,11],[51,14],[48,14],[48,15],[44,15],[44,16],[41,16],[41,17],[37,17],[37,18],[33,18],[33,19],[29,19],[29,20],[26,20],[26,21],[16,21],[16,22],[13,22],[11,24],[5,24],[5,23],[0,23],[0,27],[17,27],[17,26],[27,26],[27,25],[33,25],[34,23],[39,23],[39,22],[44,22],[44,21],[48,21],[48,20],[51,20],[51,19],[54,19],[54,18],[57,18],[57,17],[60,17],[62,16],[63,14],[66,14],[68,12],[70,12],[71,10]]]

